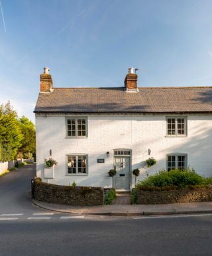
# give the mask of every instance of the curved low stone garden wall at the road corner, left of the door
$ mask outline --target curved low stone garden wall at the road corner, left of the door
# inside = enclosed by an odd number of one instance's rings
[[[47,184],[36,178],[32,180],[32,198],[47,203],[95,206],[104,204],[104,190],[101,187]]]

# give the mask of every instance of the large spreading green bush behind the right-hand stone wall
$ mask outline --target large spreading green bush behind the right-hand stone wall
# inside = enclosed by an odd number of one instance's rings
[[[138,187],[172,187],[184,188],[188,185],[207,185],[212,184],[212,178],[203,178],[189,168],[184,170],[162,170],[153,176],[148,176],[145,180],[138,182]]]

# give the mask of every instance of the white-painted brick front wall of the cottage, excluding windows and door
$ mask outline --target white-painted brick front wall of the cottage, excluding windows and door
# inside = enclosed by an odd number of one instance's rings
[[[212,116],[187,116],[187,136],[166,137],[166,116],[88,116],[87,138],[66,138],[64,116],[36,116],[36,160],[37,176],[43,179],[44,158],[52,157],[58,162],[52,184],[111,187],[112,180],[107,172],[113,168],[113,150],[132,150],[132,168],[140,169],[137,180],[166,169],[166,154],[187,154],[187,164],[199,174],[212,176]],[[157,160],[152,168],[146,168],[145,160]],[[110,157],[106,158],[106,152]],[[88,154],[87,176],[66,176],[66,154]],[[97,164],[97,158],[105,158]],[[47,180],[44,180],[47,182]],[[131,188],[134,176],[131,177]]]

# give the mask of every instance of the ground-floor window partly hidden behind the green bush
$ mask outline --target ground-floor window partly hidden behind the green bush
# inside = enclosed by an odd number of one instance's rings
[[[167,170],[184,170],[187,167],[187,155],[186,154],[170,154],[167,156]]]

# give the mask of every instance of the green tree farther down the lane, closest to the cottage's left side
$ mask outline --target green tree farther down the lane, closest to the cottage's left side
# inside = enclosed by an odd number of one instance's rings
[[[19,125],[23,139],[19,148],[18,156],[30,158],[35,154],[35,126],[26,116],[19,118]]]

